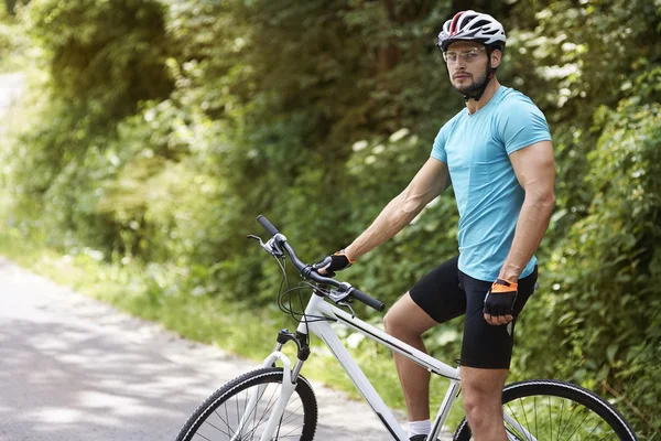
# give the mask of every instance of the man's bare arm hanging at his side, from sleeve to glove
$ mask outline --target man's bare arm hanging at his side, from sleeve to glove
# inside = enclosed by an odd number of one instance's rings
[[[525,198],[510,252],[498,277],[517,281],[540,246],[555,207],[555,161],[551,141],[528,146],[509,158]]]

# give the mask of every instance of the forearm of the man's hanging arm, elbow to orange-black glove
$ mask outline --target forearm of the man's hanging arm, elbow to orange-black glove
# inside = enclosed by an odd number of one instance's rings
[[[500,269],[499,278],[510,281],[519,279],[544,238],[554,207],[555,197],[553,194],[531,197],[527,195],[521,213],[519,213],[514,239]]]

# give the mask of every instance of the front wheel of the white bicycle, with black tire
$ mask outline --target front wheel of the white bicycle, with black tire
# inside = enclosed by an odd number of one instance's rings
[[[269,420],[270,411],[280,396],[278,391],[281,384],[282,368],[277,367],[252,370],[232,379],[197,407],[180,430],[176,441],[259,440],[261,437],[259,429]],[[247,400],[250,397],[249,390],[254,390],[258,386],[263,386],[263,389],[254,412],[250,411],[248,417],[242,415],[239,417],[241,411],[246,411]],[[235,429],[239,429],[242,418],[252,422],[245,422],[238,433],[232,430],[231,424],[236,423]],[[299,376],[296,388],[288,402],[281,423],[275,429],[273,440],[312,441],[316,422],[317,404],[314,391],[310,383]],[[246,427],[249,429],[247,430]]]

